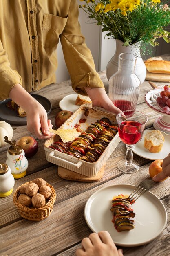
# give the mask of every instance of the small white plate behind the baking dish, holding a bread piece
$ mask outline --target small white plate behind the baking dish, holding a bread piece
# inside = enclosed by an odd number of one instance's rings
[[[59,107],[62,110],[69,110],[75,112],[80,106],[75,105],[75,100],[77,99],[78,94],[70,94],[65,96],[60,102]]]

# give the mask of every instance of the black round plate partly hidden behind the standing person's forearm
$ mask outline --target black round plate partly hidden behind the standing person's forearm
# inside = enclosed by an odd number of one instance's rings
[[[49,115],[52,108],[52,105],[49,99],[38,94],[32,93],[31,95],[45,108],[47,115]],[[18,117],[15,110],[7,108],[6,104],[8,101],[10,101],[10,99],[5,99],[4,101],[0,101],[0,120],[5,121],[9,124],[25,125],[26,117]]]

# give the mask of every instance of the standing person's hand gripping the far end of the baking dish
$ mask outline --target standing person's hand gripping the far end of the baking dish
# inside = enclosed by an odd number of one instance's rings
[[[92,106],[102,107],[117,115],[121,110],[117,108],[109,99],[104,88],[85,88],[88,96],[91,98]]]

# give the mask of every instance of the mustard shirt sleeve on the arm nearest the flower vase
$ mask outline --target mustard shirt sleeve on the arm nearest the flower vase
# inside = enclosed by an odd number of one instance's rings
[[[72,88],[79,94],[87,95],[84,87],[104,88],[104,84],[95,70],[91,51],[85,43],[78,22],[78,5],[72,0],[68,12],[68,20],[60,41],[64,59],[71,76]]]

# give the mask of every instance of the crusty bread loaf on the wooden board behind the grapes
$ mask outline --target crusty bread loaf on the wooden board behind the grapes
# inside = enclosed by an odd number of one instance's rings
[[[148,72],[170,74],[170,61],[165,61],[161,57],[149,58],[145,61]]]

